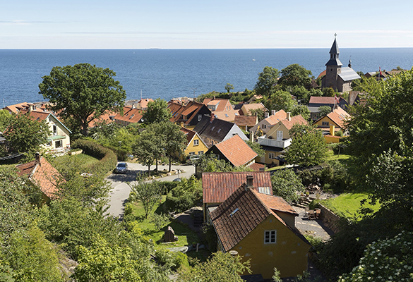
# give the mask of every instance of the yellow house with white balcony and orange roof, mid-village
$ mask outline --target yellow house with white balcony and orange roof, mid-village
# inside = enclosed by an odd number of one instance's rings
[[[265,156],[257,157],[256,162],[282,165],[282,154],[292,142],[289,130],[294,124],[307,124],[307,121],[301,115],[291,117],[290,113],[287,113],[287,118],[278,121],[264,136],[258,137],[257,142],[265,150]]]

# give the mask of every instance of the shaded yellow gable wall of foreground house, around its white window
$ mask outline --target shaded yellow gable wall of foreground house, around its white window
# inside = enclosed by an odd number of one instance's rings
[[[276,230],[276,243],[264,244],[264,232]],[[243,257],[243,262],[251,259],[253,274],[262,274],[270,279],[274,267],[281,277],[302,275],[307,270],[307,254],[310,245],[301,240],[275,216],[270,215],[232,250]]]

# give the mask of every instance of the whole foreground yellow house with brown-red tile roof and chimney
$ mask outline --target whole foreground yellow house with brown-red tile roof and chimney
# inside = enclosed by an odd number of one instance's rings
[[[251,259],[252,274],[272,278],[301,275],[307,270],[311,247],[295,228],[297,212],[282,199],[258,192],[252,180],[241,185],[225,202],[210,212],[218,238],[218,250]]]

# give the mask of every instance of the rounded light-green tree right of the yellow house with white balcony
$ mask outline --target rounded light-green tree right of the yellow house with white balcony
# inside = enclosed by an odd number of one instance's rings
[[[287,163],[297,166],[316,166],[327,159],[323,133],[311,125],[295,124],[289,130],[292,143],[288,147]]]

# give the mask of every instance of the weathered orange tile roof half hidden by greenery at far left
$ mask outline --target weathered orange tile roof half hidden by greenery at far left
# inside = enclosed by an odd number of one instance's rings
[[[49,161],[40,157],[40,164],[30,161],[26,164],[19,164],[18,175],[28,176],[30,181],[35,184],[49,199],[56,198],[58,180],[61,180],[60,173]]]

